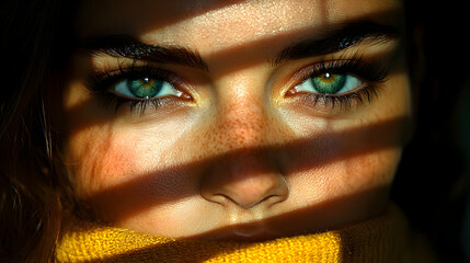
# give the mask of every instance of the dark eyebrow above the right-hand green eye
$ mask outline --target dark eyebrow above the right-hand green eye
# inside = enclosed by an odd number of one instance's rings
[[[344,24],[336,30],[326,31],[324,35],[286,47],[273,59],[273,66],[340,52],[365,41],[371,44],[385,43],[397,38],[399,32],[393,26],[363,21]]]

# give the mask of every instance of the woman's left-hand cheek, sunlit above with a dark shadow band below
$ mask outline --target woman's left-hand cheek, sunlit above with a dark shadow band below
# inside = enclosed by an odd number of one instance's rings
[[[188,122],[185,122],[188,124]],[[149,206],[194,192],[179,165],[181,119],[154,125],[110,122],[76,130],[65,147],[78,198],[108,221],[125,220]]]

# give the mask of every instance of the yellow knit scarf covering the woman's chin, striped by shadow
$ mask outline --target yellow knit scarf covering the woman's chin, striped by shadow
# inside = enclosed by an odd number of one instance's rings
[[[56,250],[58,262],[408,262],[408,225],[391,206],[380,217],[340,230],[264,242],[175,240],[74,224]]]

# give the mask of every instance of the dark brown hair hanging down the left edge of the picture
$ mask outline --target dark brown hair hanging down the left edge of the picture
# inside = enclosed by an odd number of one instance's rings
[[[0,261],[54,261],[64,176],[43,98],[57,69],[59,1],[1,1]],[[62,37],[62,36],[60,36]],[[53,52],[54,50],[54,52]],[[41,260],[39,260],[41,259]]]

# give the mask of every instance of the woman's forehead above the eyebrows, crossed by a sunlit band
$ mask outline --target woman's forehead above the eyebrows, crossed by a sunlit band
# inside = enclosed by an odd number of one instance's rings
[[[253,42],[291,42],[354,20],[392,24],[401,8],[400,0],[85,0],[76,32],[79,38],[128,34],[148,43],[196,46],[204,54]]]

